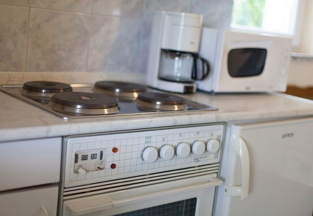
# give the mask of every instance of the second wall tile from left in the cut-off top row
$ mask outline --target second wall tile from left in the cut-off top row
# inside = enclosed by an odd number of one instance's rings
[[[31,0],[31,7],[91,12],[92,0]]]

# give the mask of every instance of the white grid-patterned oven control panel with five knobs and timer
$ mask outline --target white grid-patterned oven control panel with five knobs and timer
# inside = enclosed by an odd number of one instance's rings
[[[218,163],[224,124],[70,137],[65,187]]]

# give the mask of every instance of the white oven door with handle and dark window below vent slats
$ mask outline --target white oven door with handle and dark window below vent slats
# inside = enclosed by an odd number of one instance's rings
[[[216,174],[65,200],[63,215],[205,216],[212,214]]]

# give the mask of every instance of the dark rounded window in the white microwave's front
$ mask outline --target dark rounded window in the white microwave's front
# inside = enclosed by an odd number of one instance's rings
[[[232,49],[228,53],[228,73],[232,77],[260,75],[265,66],[267,50],[262,48]]]

